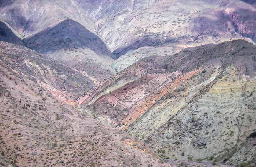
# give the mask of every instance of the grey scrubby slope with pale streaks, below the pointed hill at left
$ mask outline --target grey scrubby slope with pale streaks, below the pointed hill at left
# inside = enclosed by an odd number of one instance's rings
[[[0,44],[1,61],[21,73],[30,74],[30,80],[51,88],[52,93],[56,91],[65,100],[77,99],[94,87],[89,77],[45,55],[19,45],[1,41]]]

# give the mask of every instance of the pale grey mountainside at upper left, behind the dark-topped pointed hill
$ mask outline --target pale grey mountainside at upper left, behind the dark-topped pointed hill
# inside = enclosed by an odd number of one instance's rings
[[[90,16],[74,0],[1,0],[0,18],[26,37],[67,18],[94,31]]]

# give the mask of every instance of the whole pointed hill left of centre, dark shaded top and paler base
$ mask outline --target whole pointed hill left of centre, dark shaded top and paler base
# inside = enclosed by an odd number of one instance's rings
[[[104,42],[71,19],[25,38],[26,46],[92,77],[98,84],[112,75],[112,53]]]

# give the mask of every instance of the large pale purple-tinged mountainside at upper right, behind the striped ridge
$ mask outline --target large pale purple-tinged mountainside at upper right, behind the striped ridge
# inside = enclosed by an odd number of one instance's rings
[[[229,41],[255,42],[255,12],[240,0],[129,0],[77,2],[94,19],[97,35],[120,57],[121,71],[152,55],[171,55],[187,47]]]

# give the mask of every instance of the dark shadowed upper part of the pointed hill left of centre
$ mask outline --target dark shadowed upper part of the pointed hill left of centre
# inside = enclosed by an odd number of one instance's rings
[[[109,56],[111,52],[104,42],[78,22],[66,19],[52,28],[47,28],[24,40],[26,46],[39,53],[52,53],[64,49],[89,48],[99,56]]]

